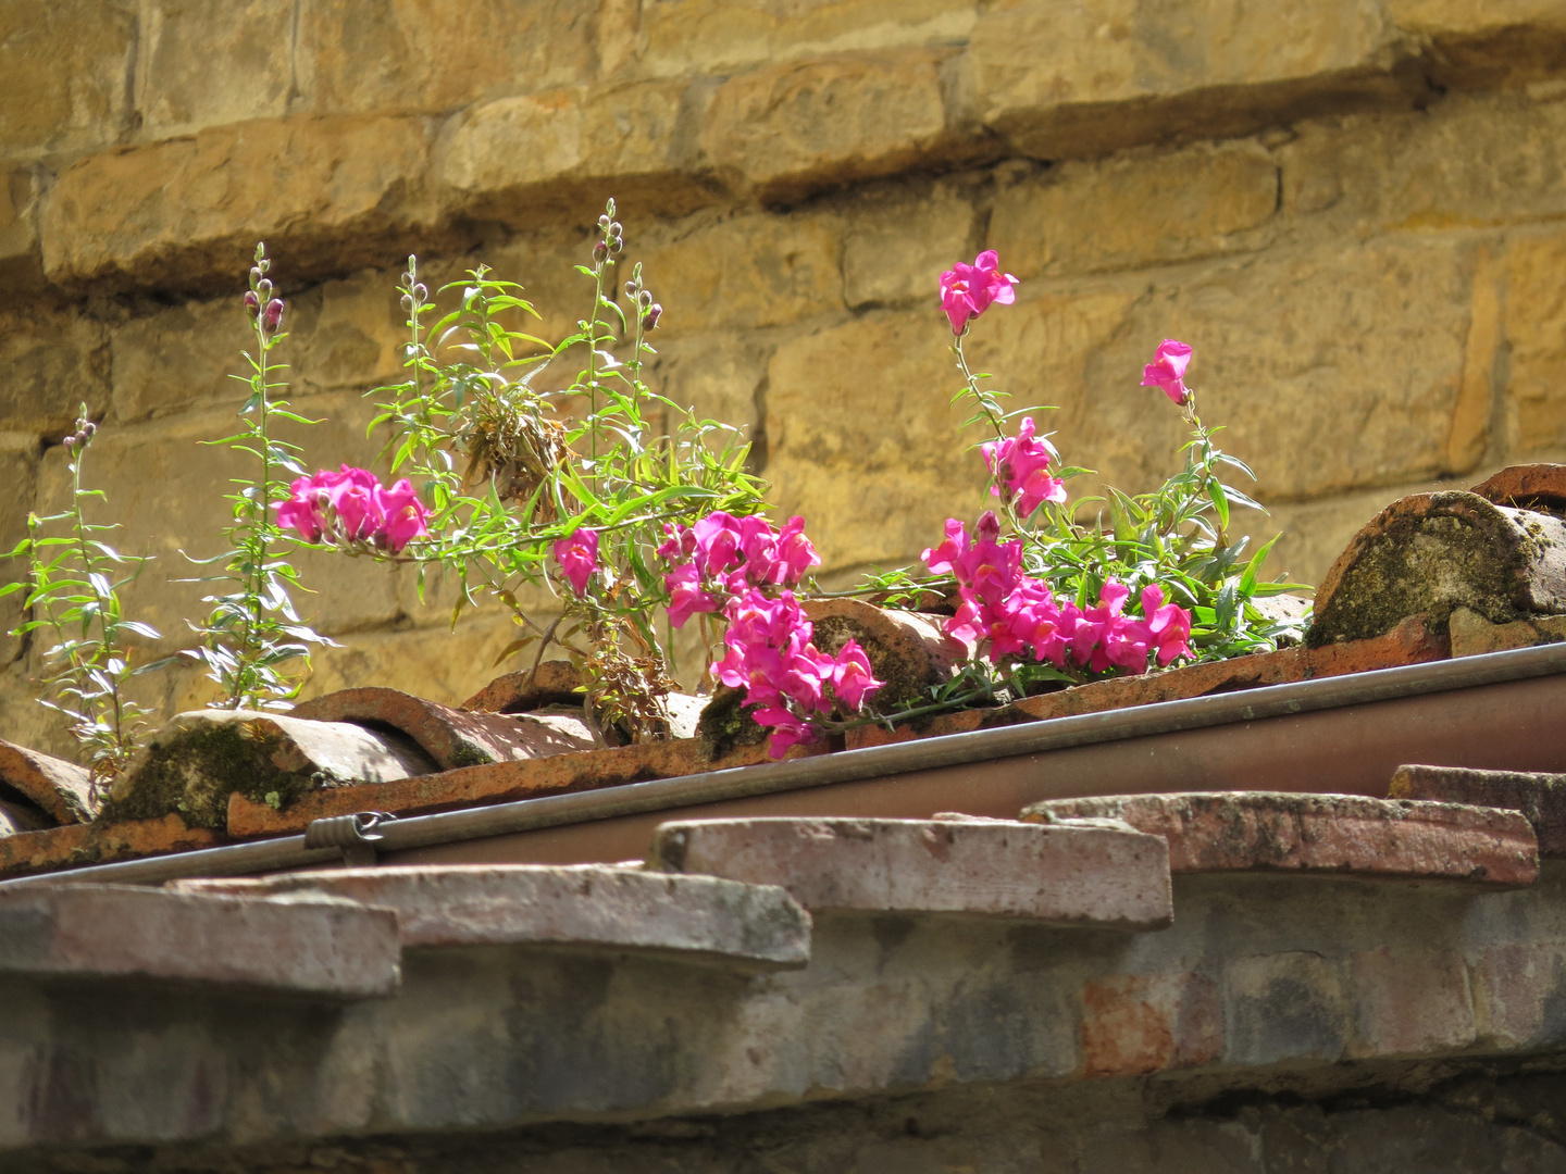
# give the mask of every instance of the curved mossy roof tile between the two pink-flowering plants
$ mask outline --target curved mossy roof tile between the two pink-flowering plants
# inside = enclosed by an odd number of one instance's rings
[[[857,640],[871,672],[886,684],[875,704],[889,709],[919,698],[932,686],[957,675],[971,650],[941,631],[941,617],[874,607],[863,600],[810,600],[803,604],[813,626],[811,643],[836,656]]]

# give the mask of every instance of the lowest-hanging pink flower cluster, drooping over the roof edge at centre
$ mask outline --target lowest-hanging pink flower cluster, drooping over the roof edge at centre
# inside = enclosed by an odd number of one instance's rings
[[[792,592],[769,600],[750,589],[730,600],[723,617],[728,651],[713,673],[728,687],[744,689],[745,704],[756,706],[756,722],[772,726],[767,744],[772,758],[783,758],[796,742],[816,740],[811,718],[832,712],[832,697],[857,712],[885,684],[875,679],[869,657],[853,640],[835,657],[817,651],[810,642],[814,628]]]

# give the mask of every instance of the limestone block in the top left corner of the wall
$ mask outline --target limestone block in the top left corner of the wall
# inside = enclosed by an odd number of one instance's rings
[[[19,0],[0,13],[0,153],[91,150],[130,117],[132,0]]]

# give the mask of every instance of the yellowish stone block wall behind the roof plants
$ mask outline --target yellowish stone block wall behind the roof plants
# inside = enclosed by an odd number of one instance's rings
[[[559,333],[615,194],[664,390],[750,429],[833,576],[977,507],[933,285],[985,246],[1023,285],[976,351],[1115,484],[1171,468],[1176,413],[1137,380],[1195,344],[1279,571],[1320,576],[1402,493],[1566,452],[1549,0],[17,0],[0,77],[0,542],[61,501],[88,402],[169,648],[202,593],[179,551],[216,546],[232,465],[196,441],[232,420],[258,238],[330,465],[379,448],[401,258],[484,260]],[[341,643],[312,692],[460,698],[507,640],[496,615],[448,636],[409,576],[305,573]],[[36,651],[0,651],[0,734],[47,745]],[[186,673],[163,700],[202,697]]]

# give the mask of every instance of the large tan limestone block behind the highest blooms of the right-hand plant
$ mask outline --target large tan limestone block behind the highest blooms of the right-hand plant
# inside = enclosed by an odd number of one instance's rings
[[[1276,249],[1151,282],[1101,279],[1085,286],[1104,307],[1087,329],[1071,326],[1085,307],[1024,293],[990,312],[994,322],[977,333],[991,341],[974,357],[991,371],[1060,371],[1012,387],[1035,396],[1021,402],[1060,404],[1048,426],[1065,459],[1092,460],[1128,492],[1160,484],[1185,441],[1179,413],[1154,410],[1157,391],[1135,387],[1160,338],[1193,341],[1187,382],[1203,418],[1223,421],[1225,449],[1254,460],[1259,481],[1236,482],[1245,492],[1270,501],[1395,485],[1449,468],[1474,341],[1474,265],[1444,239]],[[1055,332],[1074,362],[1037,368]]]

